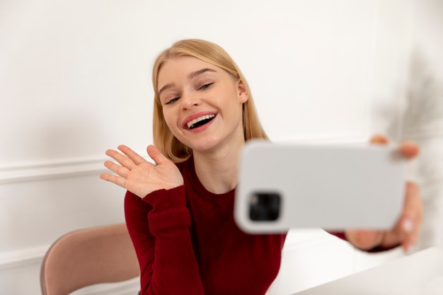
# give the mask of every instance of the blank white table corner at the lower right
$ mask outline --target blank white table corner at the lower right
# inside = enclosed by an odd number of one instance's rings
[[[379,267],[297,293],[325,294],[443,295],[443,249],[427,248]]]

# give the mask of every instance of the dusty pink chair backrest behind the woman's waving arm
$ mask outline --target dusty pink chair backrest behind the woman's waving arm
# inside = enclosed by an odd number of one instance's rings
[[[92,284],[139,276],[139,265],[125,224],[97,226],[55,241],[40,269],[42,295],[67,295]]]

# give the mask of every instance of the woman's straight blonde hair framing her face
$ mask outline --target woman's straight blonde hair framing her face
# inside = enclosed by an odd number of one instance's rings
[[[152,69],[152,85],[154,86],[154,145],[166,157],[175,163],[180,163],[192,156],[192,149],[182,144],[172,134],[168,125],[166,125],[159,97],[159,86],[157,84],[161,66],[163,66],[168,59],[181,56],[197,57],[197,59],[224,69],[232,76],[243,81],[243,85],[249,95],[248,100],[243,104],[243,134],[245,140],[267,139],[267,135],[258,120],[258,114],[255,110],[248,83],[229,54],[219,45],[209,41],[199,39],[180,40],[159,54]]]

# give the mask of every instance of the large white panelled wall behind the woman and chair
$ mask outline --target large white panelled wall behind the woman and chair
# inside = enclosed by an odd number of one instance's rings
[[[2,0],[0,293],[39,294],[52,241],[123,221],[123,190],[98,179],[104,151],[124,143],[144,153],[151,143],[151,64],[173,41],[200,37],[231,53],[273,140],[362,141],[403,124],[414,32],[431,25],[415,18],[441,20],[438,4]],[[436,36],[420,44],[441,45]],[[275,294],[375,261],[318,231],[289,241]],[[345,261],[340,270],[331,256]],[[321,275],[304,271],[317,264]]]

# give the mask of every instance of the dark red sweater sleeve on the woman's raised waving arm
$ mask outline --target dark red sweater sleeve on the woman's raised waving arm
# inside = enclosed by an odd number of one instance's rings
[[[190,238],[185,187],[125,197],[125,218],[140,266],[142,295],[203,295]]]

